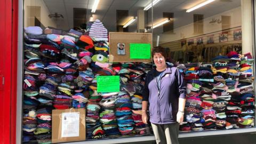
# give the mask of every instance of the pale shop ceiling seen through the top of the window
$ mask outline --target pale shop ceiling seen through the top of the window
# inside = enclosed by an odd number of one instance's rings
[[[186,9],[201,3],[204,0],[162,0],[154,6],[153,20],[162,19],[163,12],[173,12],[175,27],[180,27],[193,22],[193,14],[204,14],[210,17],[241,5],[240,0],[216,0],[209,5],[193,12],[186,13]],[[43,0],[51,14],[58,13],[62,18],[56,19],[58,28],[69,29],[73,27],[73,8],[87,9],[86,19],[91,17],[94,0]],[[100,19],[109,31],[116,31],[116,10],[129,10],[129,16],[137,16],[137,10],[143,9],[151,0],[100,0],[97,11],[93,14],[94,20]],[[147,11],[146,25],[151,25],[151,10]],[[153,22],[153,23],[154,23]],[[129,31],[136,30],[136,22],[129,26]]]

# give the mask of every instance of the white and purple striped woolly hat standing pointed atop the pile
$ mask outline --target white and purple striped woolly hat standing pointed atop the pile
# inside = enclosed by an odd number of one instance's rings
[[[103,26],[102,22],[97,19],[91,26],[89,36],[93,37],[95,41],[108,41],[108,30]]]

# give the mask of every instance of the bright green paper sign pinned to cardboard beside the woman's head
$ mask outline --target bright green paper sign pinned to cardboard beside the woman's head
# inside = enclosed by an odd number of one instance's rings
[[[150,59],[150,44],[130,44],[130,59]]]

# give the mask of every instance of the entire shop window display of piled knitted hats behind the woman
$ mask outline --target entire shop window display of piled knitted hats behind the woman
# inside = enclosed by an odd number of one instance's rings
[[[191,16],[179,6],[188,1],[159,1],[147,10],[143,6],[151,0],[98,1],[102,10],[94,13],[88,11],[94,1],[37,1],[24,1],[23,143],[153,136],[151,125],[142,122],[141,105],[156,45],[186,81],[180,133],[254,127],[253,53],[244,51],[242,20],[234,19],[241,16],[241,2],[212,2],[213,8],[233,5],[218,12],[201,8],[195,13],[203,14]],[[121,2],[124,10],[116,8]],[[62,17],[48,16],[54,6]],[[124,27],[130,17],[134,21]],[[162,19],[168,21],[159,24]],[[70,111],[79,114],[74,118]]]

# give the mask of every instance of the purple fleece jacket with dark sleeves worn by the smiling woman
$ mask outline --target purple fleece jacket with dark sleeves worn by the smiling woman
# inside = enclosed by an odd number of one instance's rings
[[[156,69],[148,72],[143,89],[142,101],[149,102],[149,121],[153,124],[175,123],[179,98],[186,97],[186,84],[179,70],[167,65],[158,91],[155,74]]]

